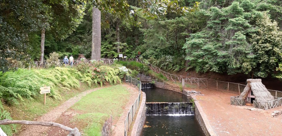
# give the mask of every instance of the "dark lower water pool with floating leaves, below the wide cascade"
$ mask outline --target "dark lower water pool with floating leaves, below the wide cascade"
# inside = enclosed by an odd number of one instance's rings
[[[147,115],[142,136],[204,136],[204,132],[192,116]]]

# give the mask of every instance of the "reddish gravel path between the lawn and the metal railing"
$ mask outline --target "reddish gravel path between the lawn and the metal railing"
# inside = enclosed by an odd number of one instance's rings
[[[117,124],[115,125],[115,128],[113,129],[113,136],[122,136],[124,135],[124,121],[127,117],[128,111],[130,110],[132,104],[135,102],[135,100],[137,99],[138,95],[139,95],[139,91],[137,89],[135,89],[132,86],[129,86],[127,84],[123,84],[123,86],[126,86],[129,91],[130,91],[130,99],[127,102],[125,109],[123,110],[123,114],[120,117],[119,121],[117,122]]]

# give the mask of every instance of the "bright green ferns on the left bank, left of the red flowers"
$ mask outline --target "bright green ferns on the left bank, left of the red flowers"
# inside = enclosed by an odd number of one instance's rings
[[[80,87],[78,79],[81,76],[77,70],[65,67],[0,72],[0,99],[5,104],[18,105],[19,100],[33,99],[40,95],[40,87],[46,85],[51,86],[51,93],[47,95],[58,100],[61,99],[59,90],[67,91]],[[0,120],[11,119],[10,113],[4,110],[2,103],[0,103],[0,115]],[[15,125],[1,125],[1,128],[11,135]]]

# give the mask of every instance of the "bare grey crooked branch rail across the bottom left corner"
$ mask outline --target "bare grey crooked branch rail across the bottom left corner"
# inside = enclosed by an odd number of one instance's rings
[[[81,136],[78,128],[69,128],[65,125],[55,123],[55,122],[43,122],[43,121],[24,121],[24,120],[9,120],[4,119],[0,121],[0,125],[8,125],[8,124],[25,124],[25,125],[42,125],[42,126],[56,126],[62,128],[63,130],[67,130],[70,133],[68,136]],[[2,135],[1,135],[2,136]]]

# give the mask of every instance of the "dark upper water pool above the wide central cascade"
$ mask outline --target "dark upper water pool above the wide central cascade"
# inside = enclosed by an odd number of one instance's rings
[[[189,102],[187,96],[162,88],[143,88],[146,102]]]

